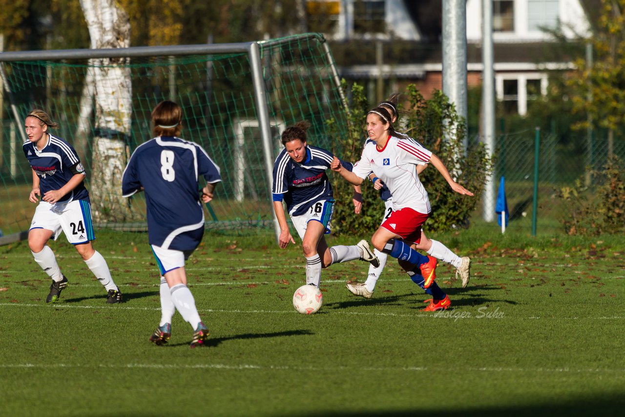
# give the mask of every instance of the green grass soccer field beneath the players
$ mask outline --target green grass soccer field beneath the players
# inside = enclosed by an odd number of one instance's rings
[[[176,315],[158,324],[158,269],[145,234],[100,231],[126,303],[65,240],[51,243],[70,280],[58,304],[26,242],[0,246],[0,414],[3,416],[587,415],[625,406],[625,242],[475,228],[435,237],[469,254],[465,289],[441,265],[452,309],[426,299],[389,261],[372,299],[354,261],[324,270],[324,306],[292,308],[304,283],[299,246],[271,234],[207,234],[187,263],[211,329],[189,349]],[[329,239],[330,244],[355,243]],[[460,250],[461,249],[461,250]]]

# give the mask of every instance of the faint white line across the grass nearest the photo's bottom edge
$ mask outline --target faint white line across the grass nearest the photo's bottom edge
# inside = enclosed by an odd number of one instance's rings
[[[196,349],[197,350],[197,349]],[[379,372],[396,372],[396,371],[407,371],[407,372],[423,372],[430,371],[426,366],[379,366],[379,367],[369,367],[369,366],[336,366],[336,367],[327,367],[327,366],[289,366],[289,365],[255,365],[255,364],[239,364],[239,365],[228,365],[221,363],[196,363],[196,364],[158,364],[158,363],[127,363],[127,364],[99,364],[99,365],[82,365],[82,364],[39,364],[39,363],[16,363],[16,364],[0,364],[0,368],[41,368],[41,369],[50,369],[50,368],[110,368],[110,369],[119,369],[119,368],[139,368],[139,369],[225,369],[225,370],[234,370],[241,371],[246,369],[263,369],[263,370],[276,370],[276,371],[284,371],[284,370],[294,370],[294,371],[379,371]],[[621,374],[625,373],[625,368],[491,368],[491,367],[479,367],[479,368],[454,368],[454,371],[469,371],[469,372],[488,372],[488,373],[612,373],[612,374]]]

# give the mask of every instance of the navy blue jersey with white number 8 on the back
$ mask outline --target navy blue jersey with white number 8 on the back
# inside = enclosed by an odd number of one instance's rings
[[[199,200],[199,176],[221,181],[219,167],[196,143],[161,136],[134,150],[124,169],[122,194],[144,188],[149,243],[163,249],[197,248],[204,234],[204,211]]]

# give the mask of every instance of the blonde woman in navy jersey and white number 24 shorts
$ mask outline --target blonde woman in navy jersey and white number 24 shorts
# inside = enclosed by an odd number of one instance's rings
[[[122,300],[119,288],[103,256],[91,244],[96,237],[89,192],[83,183],[86,173],[78,154],[69,143],[49,132],[59,125],[46,112],[33,110],[24,122],[28,140],[22,149],[32,168],[32,191],[28,199],[39,203],[28,232],[28,246],[36,263],[52,278],[46,303],[56,303],[68,286],[54,252],[47,246],[49,239],[56,240],[61,231],[106,289],[106,302],[119,303]]]

